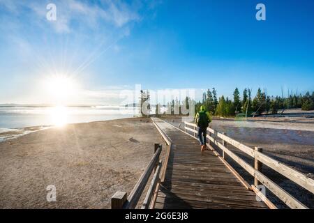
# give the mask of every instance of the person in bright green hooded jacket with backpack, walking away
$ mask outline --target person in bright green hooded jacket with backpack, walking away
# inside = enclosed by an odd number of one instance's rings
[[[207,128],[211,123],[211,115],[209,112],[206,111],[205,107],[202,105],[200,107],[200,112],[197,112],[195,116],[195,124],[198,127],[197,137],[200,140],[201,144],[201,151],[203,152],[206,148],[206,135],[207,135]]]

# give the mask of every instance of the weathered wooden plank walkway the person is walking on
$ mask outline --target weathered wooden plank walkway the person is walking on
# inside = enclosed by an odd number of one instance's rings
[[[172,141],[165,180],[155,208],[268,208],[212,151],[200,151],[196,139],[154,118]]]

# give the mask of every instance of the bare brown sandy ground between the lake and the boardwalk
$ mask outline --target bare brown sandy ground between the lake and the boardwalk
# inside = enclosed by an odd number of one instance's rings
[[[0,142],[0,208],[110,208],[163,143],[150,119],[50,128]],[[47,185],[57,202],[47,202]]]

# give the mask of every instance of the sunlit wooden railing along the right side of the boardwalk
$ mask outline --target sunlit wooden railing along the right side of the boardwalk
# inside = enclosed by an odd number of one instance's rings
[[[189,127],[192,128],[189,128]],[[185,132],[190,134],[189,132],[193,132],[193,137],[196,138],[197,134],[197,125],[193,123],[184,123],[184,129]],[[255,147],[254,149],[251,147],[248,147],[244,144],[239,143],[239,141],[236,141],[230,137],[227,137],[224,133],[217,132],[216,130],[212,128],[208,128],[207,132],[207,138],[209,139],[209,146],[211,144],[214,144],[218,146],[223,151],[223,159],[225,159],[225,155],[228,155],[232,158],[235,162],[237,162],[242,168],[244,168],[246,171],[248,171],[249,174],[251,174],[254,177],[254,185],[251,185],[251,190],[253,190],[259,197],[265,202],[268,203],[269,206],[274,206],[271,204],[271,202],[267,199],[267,197],[264,196],[264,194],[261,194],[260,190],[257,189],[257,186],[261,183],[265,187],[267,187],[273,194],[276,195],[281,201],[283,201],[287,206],[290,208],[307,208],[303,203],[298,201],[296,198],[294,198],[291,194],[283,190],[282,187],[274,183],[274,181],[270,180],[262,174],[262,164],[267,165],[271,169],[274,169],[274,171],[278,172],[279,174],[285,176],[286,178],[292,180],[294,183],[297,183],[299,186],[304,187],[309,192],[314,193],[314,180],[311,178],[308,178],[304,174],[301,174],[299,171],[296,171],[295,169],[292,169],[291,167],[287,167],[285,164],[278,162],[277,160],[274,160],[273,158],[264,155],[262,153],[262,148]],[[216,139],[222,139],[222,144],[217,141]],[[227,144],[230,144],[234,146],[235,148],[238,148],[240,151],[246,153],[250,157],[254,158],[254,167],[252,167],[250,164],[248,164],[246,161],[244,161],[241,157],[230,151],[230,149],[227,148]],[[217,153],[218,154],[218,153]],[[274,206],[275,207],[275,206]]]

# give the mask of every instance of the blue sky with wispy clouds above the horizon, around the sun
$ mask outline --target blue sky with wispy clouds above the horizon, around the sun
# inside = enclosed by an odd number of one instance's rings
[[[257,3],[266,21],[255,19]],[[51,102],[40,83],[56,73],[79,86],[73,103],[114,103],[135,84],[313,91],[313,10],[308,0],[0,0],[0,103]]]

